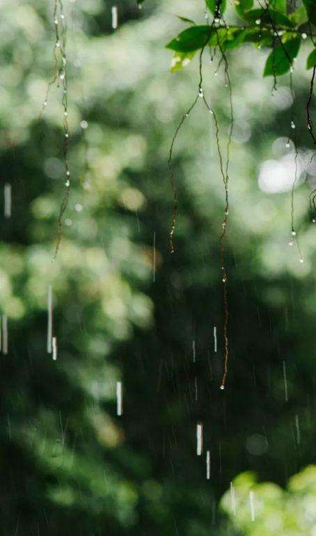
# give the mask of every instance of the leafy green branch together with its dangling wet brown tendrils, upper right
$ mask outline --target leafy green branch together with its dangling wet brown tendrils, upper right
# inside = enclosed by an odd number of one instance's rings
[[[137,0],[139,6],[144,0]],[[221,252],[221,270],[222,280],[224,285],[224,325],[223,325],[223,339],[224,339],[224,365],[223,365],[223,378],[221,381],[221,389],[225,388],[226,377],[228,375],[228,292],[227,292],[227,271],[225,264],[225,249],[224,239],[226,237],[228,212],[229,212],[229,199],[228,199],[228,168],[230,160],[230,141],[232,138],[233,127],[233,112],[232,112],[232,85],[230,83],[230,77],[228,73],[228,58],[226,53],[230,49],[237,48],[246,42],[253,42],[253,45],[257,49],[267,48],[271,49],[267,61],[264,66],[264,77],[271,76],[274,78],[273,90],[277,88],[277,77],[286,72],[290,72],[290,92],[292,95],[292,110],[290,117],[290,132],[287,139],[287,148],[290,148],[290,139],[294,143],[295,150],[295,173],[292,182],[291,189],[291,238],[290,245],[293,244],[293,240],[296,241],[297,250],[299,253],[299,260],[303,262],[301,255],[301,248],[299,244],[299,237],[294,223],[294,189],[298,181],[298,150],[296,143],[296,136],[292,136],[292,132],[295,132],[294,121],[294,88],[293,88],[293,72],[294,62],[299,54],[301,42],[309,38],[310,44],[313,46],[313,50],[310,52],[307,60],[307,69],[313,69],[312,78],[310,81],[310,90],[308,93],[308,102],[306,105],[307,114],[307,128],[308,132],[316,145],[316,136],[313,132],[313,121],[310,115],[310,104],[313,99],[313,88],[316,73],[316,46],[313,40],[315,33],[313,33],[313,26],[316,26],[316,2],[315,0],[303,0],[299,2],[299,6],[294,2],[288,5],[287,0],[235,0],[233,6],[235,7],[235,19],[242,19],[241,24],[228,25],[223,18],[227,7],[227,0],[205,0],[206,7],[206,20],[207,24],[198,25],[193,20],[184,17],[179,17],[185,24],[189,24],[189,28],[180,32],[171,42],[166,45],[166,48],[173,50],[174,56],[171,62],[171,71],[175,72],[185,65],[188,65],[193,59],[193,56],[199,52],[199,81],[198,81],[198,93],[194,97],[189,109],[184,116],[182,116],[179,125],[175,130],[175,134],[171,141],[171,147],[168,157],[169,178],[173,191],[173,214],[171,230],[169,233],[169,242],[171,253],[175,251],[174,246],[174,233],[177,221],[177,188],[175,185],[175,176],[173,171],[173,148],[177,135],[180,132],[184,121],[189,116],[191,111],[196,107],[199,97],[207,107],[208,111],[212,114],[215,125],[216,133],[216,147],[219,155],[219,166],[221,176],[223,178],[224,194],[225,194],[225,209],[222,222],[222,232],[219,238],[220,252]],[[212,22],[209,22],[209,15],[212,14]],[[216,50],[219,50],[220,58],[218,69],[221,64],[224,65],[224,74],[226,80],[226,86],[229,88],[229,100],[230,100],[230,131],[228,134],[228,145],[226,148],[226,164],[223,162],[223,156],[221,152],[221,144],[219,137],[219,123],[216,119],[214,110],[210,107],[205,99],[205,93],[203,90],[203,52],[205,48],[210,48],[211,63],[216,55]],[[214,52],[212,52],[214,49]],[[217,71],[216,73],[217,74]],[[310,194],[310,205],[312,212],[315,216],[316,213],[316,190]],[[313,217],[313,222],[316,219]]]

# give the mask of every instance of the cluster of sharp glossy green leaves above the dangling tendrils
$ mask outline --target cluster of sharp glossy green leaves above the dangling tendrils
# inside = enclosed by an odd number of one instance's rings
[[[139,0],[143,1],[143,0]],[[301,6],[291,10],[286,0],[235,0],[235,17],[239,24],[226,24],[226,0],[205,0],[212,15],[210,24],[198,25],[191,19],[180,17],[189,24],[166,48],[175,52],[171,70],[178,70],[205,47],[219,48],[221,53],[234,49],[246,42],[253,42],[256,48],[271,49],[264,66],[264,76],[285,74],[292,68],[299,54],[302,40],[308,36],[313,43],[313,51],[307,60],[307,69],[316,65],[316,47],[313,42],[313,26],[316,26],[315,0],[303,0]]]

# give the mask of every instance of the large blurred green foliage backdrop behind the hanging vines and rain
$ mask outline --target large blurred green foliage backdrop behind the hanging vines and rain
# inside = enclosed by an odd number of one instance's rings
[[[285,146],[288,79],[271,94],[271,80],[262,79],[266,52],[245,45],[229,56],[231,352],[228,388],[221,392],[223,184],[212,120],[200,104],[175,145],[179,214],[175,254],[168,250],[173,200],[166,160],[196,95],[198,65],[170,74],[164,43],[180,31],[175,13],[200,21],[203,6],[152,0],[139,10],[134,0],[121,1],[113,32],[111,3],[65,2],[72,189],[56,262],[65,182],[61,90],[52,88],[39,118],[54,74],[53,8],[39,0],[0,6],[1,174],[13,196],[12,217],[1,216],[9,353],[0,361],[0,533],[252,534],[258,523],[249,526],[244,517],[247,498],[232,526],[223,521],[226,495],[217,509],[235,475],[255,471],[274,482],[269,490],[277,490],[274,507],[284,517],[281,487],[315,461],[316,252],[308,196],[316,167],[301,113],[308,47],[294,71],[301,184],[295,219],[303,264],[295,246],[287,246],[295,169],[293,146]],[[205,57],[204,88],[225,147],[228,90],[222,70],[215,77],[215,64]],[[56,362],[46,353],[48,285]],[[117,380],[123,381],[122,418]],[[210,481],[204,456],[195,454],[198,420],[212,452]],[[314,470],[306,471],[290,482],[313,477]],[[263,490],[264,503],[266,484],[243,475],[234,482],[241,497],[254,486],[259,500]],[[293,499],[303,504],[305,487],[299,493],[292,485]]]

